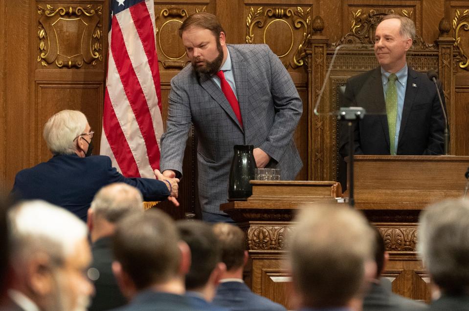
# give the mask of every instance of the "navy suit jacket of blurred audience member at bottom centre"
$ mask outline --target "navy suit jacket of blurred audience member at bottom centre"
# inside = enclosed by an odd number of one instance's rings
[[[253,293],[244,283],[223,282],[212,304],[231,311],[286,311],[284,306]]]

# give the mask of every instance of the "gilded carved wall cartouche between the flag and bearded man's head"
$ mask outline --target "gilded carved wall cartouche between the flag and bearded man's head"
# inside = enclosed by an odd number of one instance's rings
[[[165,69],[182,69],[188,60],[186,50],[179,38],[179,27],[191,14],[189,12],[206,12],[206,6],[197,5],[194,8],[163,7],[156,8],[156,49],[158,62]],[[157,12],[159,11],[159,14]]]

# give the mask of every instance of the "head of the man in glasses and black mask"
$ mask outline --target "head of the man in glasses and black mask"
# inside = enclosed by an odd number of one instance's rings
[[[86,116],[77,110],[62,110],[49,118],[44,125],[44,139],[54,155],[78,154],[84,157],[91,152],[90,131]]]

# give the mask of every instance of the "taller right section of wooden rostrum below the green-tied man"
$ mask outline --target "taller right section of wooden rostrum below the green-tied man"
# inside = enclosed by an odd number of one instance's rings
[[[429,302],[429,278],[415,248],[419,213],[463,194],[469,157],[358,155],[354,161],[355,208],[379,228],[390,254],[383,276],[393,291]]]

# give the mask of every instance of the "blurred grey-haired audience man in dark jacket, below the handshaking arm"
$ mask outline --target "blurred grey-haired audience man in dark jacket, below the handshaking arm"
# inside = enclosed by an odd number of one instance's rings
[[[116,223],[130,213],[143,213],[143,198],[137,188],[124,183],[111,184],[96,193],[88,209],[91,237],[91,279],[96,294],[89,311],[111,310],[127,303],[112,274],[112,236]]]

